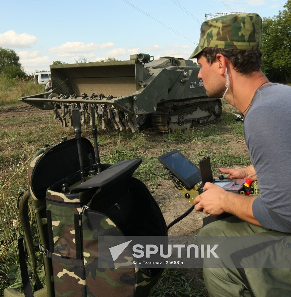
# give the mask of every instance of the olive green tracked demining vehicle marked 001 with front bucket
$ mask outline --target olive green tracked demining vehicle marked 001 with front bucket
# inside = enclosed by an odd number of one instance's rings
[[[79,108],[87,127],[94,106],[103,129],[136,129],[149,122],[155,131],[206,124],[221,114],[221,100],[208,98],[193,61],[149,54],[129,61],[51,65],[52,90],[20,100],[53,109],[63,127]]]

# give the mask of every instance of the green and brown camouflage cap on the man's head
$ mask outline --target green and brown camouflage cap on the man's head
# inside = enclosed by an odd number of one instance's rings
[[[224,15],[207,20],[201,25],[199,44],[189,59],[195,58],[206,47],[258,50],[261,30],[262,19],[256,13]]]

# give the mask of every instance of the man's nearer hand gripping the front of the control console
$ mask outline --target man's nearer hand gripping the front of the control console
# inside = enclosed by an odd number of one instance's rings
[[[205,183],[203,190],[206,191],[194,199],[195,210],[203,211],[212,216],[222,214],[224,212],[224,199],[228,195],[227,191],[209,182]]]

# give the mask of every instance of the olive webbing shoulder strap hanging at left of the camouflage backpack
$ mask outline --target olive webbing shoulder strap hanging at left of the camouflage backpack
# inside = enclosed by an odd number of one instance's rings
[[[34,276],[34,280],[35,280],[35,290],[39,290],[41,289],[42,283],[39,280],[38,274],[37,274],[37,259],[35,256],[35,251],[34,251],[34,244],[33,244],[33,239],[32,239],[32,235],[31,235],[31,230],[30,230],[30,224],[29,224],[29,216],[28,216],[28,200],[29,200],[29,191],[28,189],[23,192],[22,194],[20,194],[19,198],[19,206],[18,206],[18,210],[19,210],[19,219],[22,225],[22,229],[23,229],[23,237],[24,237],[24,242],[25,242],[25,246],[26,246],[26,251],[27,254],[29,256],[29,262],[31,265],[31,271],[32,274]],[[23,246],[23,244],[22,244]],[[20,249],[19,249],[20,252]],[[24,248],[23,248],[23,252],[24,252]],[[19,257],[21,259],[21,257]],[[25,264],[25,258],[24,259],[24,264]],[[26,264],[25,264],[26,267]],[[21,262],[20,262],[20,269],[21,269]],[[22,277],[22,272],[21,272],[21,277]]]

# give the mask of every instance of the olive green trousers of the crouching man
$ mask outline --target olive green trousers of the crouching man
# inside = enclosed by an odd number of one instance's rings
[[[237,217],[228,217],[216,222],[212,222],[203,227],[199,236],[203,238],[217,238],[217,236],[227,236],[223,242],[222,249],[229,249],[231,245],[230,240],[235,239],[233,236],[287,236],[290,241],[290,233],[281,233],[274,230],[266,229],[260,226],[253,225],[238,219]],[[243,239],[243,237],[241,237]],[[280,241],[278,244],[267,247],[268,260],[286,262],[291,259],[291,244],[286,243],[283,245]],[[284,255],[283,255],[284,254]],[[283,255],[283,256],[282,256]],[[256,255],[261,257],[261,255]],[[283,258],[282,258],[283,257]],[[251,258],[251,261],[253,259]],[[291,268],[244,268],[243,274],[239,272],[238,266],[227,268],[211,268],[213,263],[211,259],[204,259],[203,261],[203,278],[205,286],[211,297],[286,297],[291,296]],[[289,266],[288,262],[288,266]],[[219,265],[218,265],[219,266]],[[274,265],[275,266],[275,265]],[[289,266],[291,267],[291,265]]]

